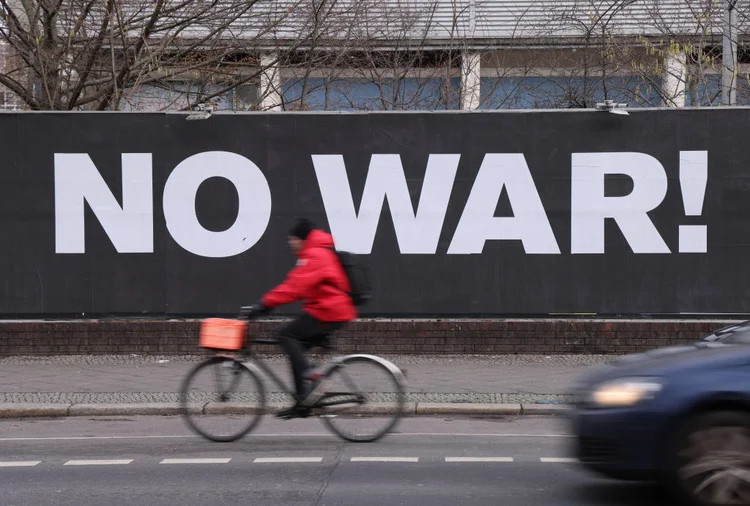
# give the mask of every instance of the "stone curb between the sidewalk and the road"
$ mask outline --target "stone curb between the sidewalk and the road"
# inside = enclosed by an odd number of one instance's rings
[[[283,406],[269,403],[266,412],[273,413]],[[488,403],[407,403],[404,416],[440,416],[440,415],[557,415],[565,416],[569,405],[549,404],[488,404]],[[231,412],[216,409],[211,405],[204,407],[204,412]],[[362,410],[362,414],[382,413],[377,404]],[[180,415],[177,403],[135,403],[135,404],[42,404],[42,403],[0,403],[0,418],[35,418],[35,417],[68,417],[68,416],[104,416],[104,415],[143,415],[175,416]]]

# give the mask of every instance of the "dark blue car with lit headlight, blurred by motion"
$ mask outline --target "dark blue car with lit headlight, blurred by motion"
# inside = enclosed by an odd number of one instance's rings
[[[750,504],[748,344],[750,321],[591,370],[571,412],[578,460],[678,504]]]

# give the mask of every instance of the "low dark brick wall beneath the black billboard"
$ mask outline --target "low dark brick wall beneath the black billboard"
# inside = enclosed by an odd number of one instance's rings
[[[271,337],[279,321],[253,322]],[[362,320],[337,337],[343,353],[623,354],[689,343],[719,320]],[[0,321],[0,356],[199,351],[196,320]],[[262,352],[278,348],[260,347]]]

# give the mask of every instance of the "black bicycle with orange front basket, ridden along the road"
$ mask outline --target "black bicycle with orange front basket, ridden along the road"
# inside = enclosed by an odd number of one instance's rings
[[[293,392],[271,368],[253,352],[252,344],[278,344],[275,339],[254,338],[246,314],[239,319],[209,318],[201,323],[201,348],[212,356],[193,367],[180,387],[180,411],[187,425],[204,438],[216,442],[236,441],[255,429],[267,413],[267,394],[262,374],[269,377],[281,394]],[[330,339],[321,343],[325,357],[317,368],[314,388],[305,399],[310,416],[319,416],[335,435],[351,442],[372,442],[393,430],[405,406],[405,376],[392,362],[367,354],[335,355]],[[209,373],[207,388],[202,374]],[[365,374],[362,374],[362,373]],[[356,377],[357,381],[353,378]],[[386,386],[373,386],[375,378]],[[227,381],[228,380],[228,381]],[[344,388],[342,388],[342,386]],[[237,423],[233,430],[223,427]],[[373,430],[360,429],[367,423]],[[208,428],[217,424],[222,430]]]

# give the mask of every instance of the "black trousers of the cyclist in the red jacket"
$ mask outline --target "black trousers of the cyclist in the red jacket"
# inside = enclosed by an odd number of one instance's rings
[[[322,322],[304,313],[279,330],[279,344],[289,356],[292,374],[294,375],[294,388],[298,398],[306,394],[304,379],[305,374],[310,369],[307,351],[314,346],[323,344],[331,333],[343,326],[343,323]]]

